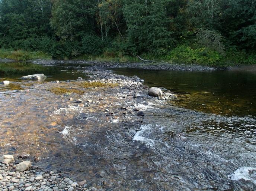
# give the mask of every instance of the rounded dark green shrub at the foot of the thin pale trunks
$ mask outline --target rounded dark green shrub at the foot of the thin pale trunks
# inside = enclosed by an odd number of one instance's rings
[[[96,35],[88,34],[82,38],[81,51],[87,55],[100,55],[103,52],[104,43]]]

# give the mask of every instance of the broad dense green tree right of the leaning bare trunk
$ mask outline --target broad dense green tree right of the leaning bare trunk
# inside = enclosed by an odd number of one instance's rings
[[[173,46],[174,39],[168,31],[164,7],[167,0],[125,0],[124,16],[131,53],[152,52],[161,54]]]

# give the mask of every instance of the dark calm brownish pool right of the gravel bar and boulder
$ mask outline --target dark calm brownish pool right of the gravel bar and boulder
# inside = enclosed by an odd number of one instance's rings
[[[148,86],[170,89],[179,96],[176,104],[185,108],[220,115],[256,115],[256,72],[113,70],[136,75]]]

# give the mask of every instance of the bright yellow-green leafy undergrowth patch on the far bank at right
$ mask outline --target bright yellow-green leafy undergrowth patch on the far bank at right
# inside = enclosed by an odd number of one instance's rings
[[[167,55],[167,59],[172,62],[200,65],[216,65],[222,57],[220,53],[209,48],[192,49],[189,46],[182,45],[176,47]]]

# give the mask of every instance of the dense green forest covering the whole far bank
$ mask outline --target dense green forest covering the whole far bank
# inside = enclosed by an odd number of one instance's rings
[[[0,47],[58,59],[254,64],[256,0],[0,0]]]

